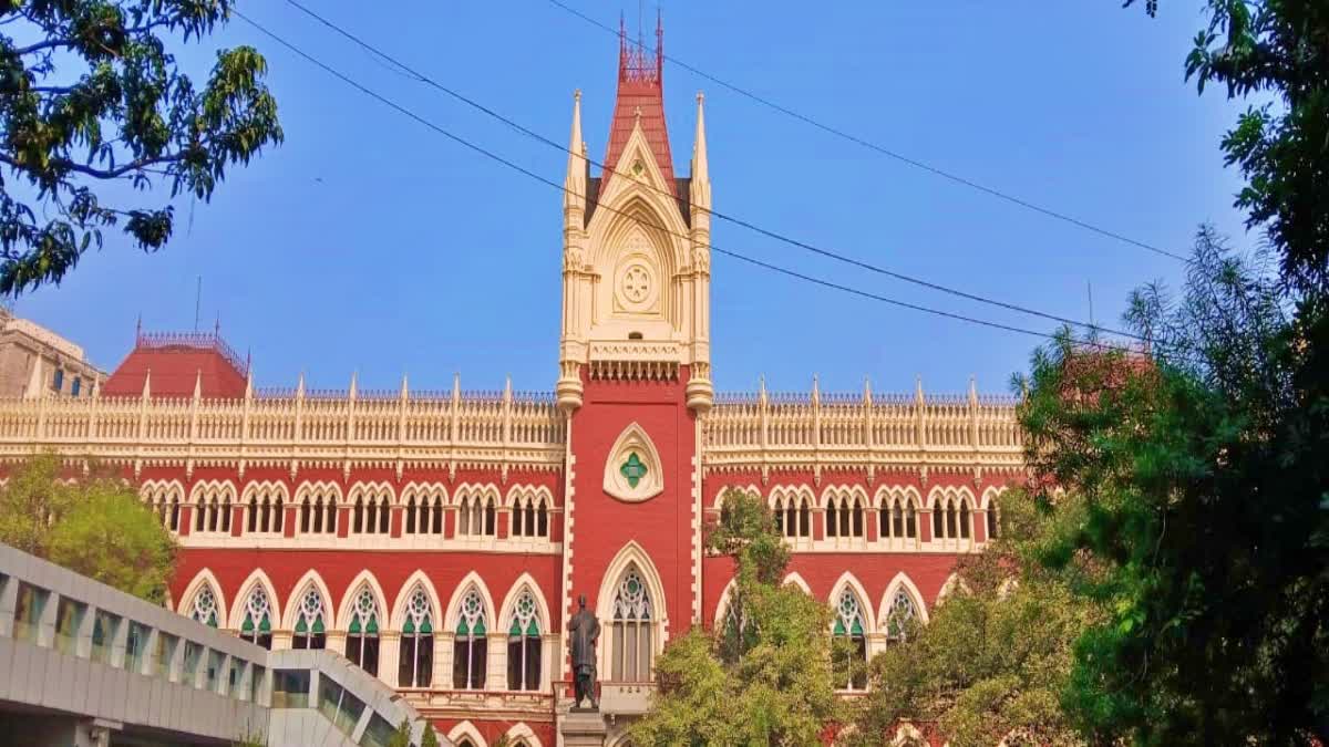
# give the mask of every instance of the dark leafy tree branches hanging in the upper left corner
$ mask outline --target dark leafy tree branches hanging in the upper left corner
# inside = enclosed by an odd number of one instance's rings
[[[124,191],[112,183],[146,191],[161,179],[171,198],[206,201],[229,166],[282,141],[256,51],[218,52],[197,88],[167,49],[211,33],[233,5],[0,4],[0,163],[13,177],[0,174],[0,294],[58,283],[82,253],[102,246],[104,229],[121,227],[145,251],[165,246],[171,206],[110,205],[106,191]]]

